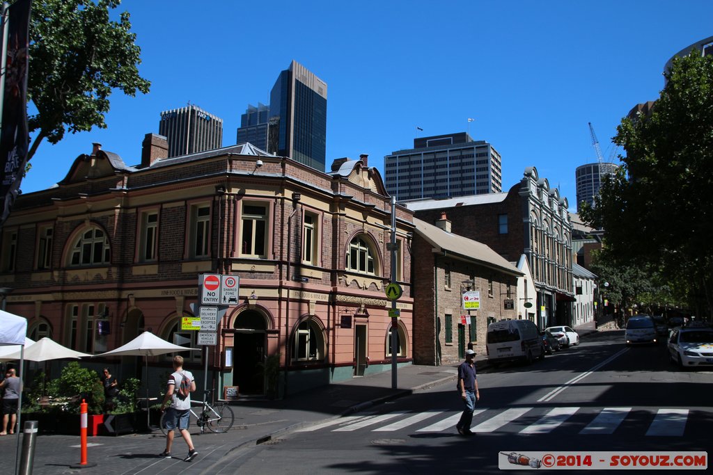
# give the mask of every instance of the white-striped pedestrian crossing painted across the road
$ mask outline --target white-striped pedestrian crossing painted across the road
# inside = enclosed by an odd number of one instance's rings
[[[580,435],[607,435],[617,430],[641,430],[648,437],[682,437],[689,409],[632,407],[511,407],[478,408],[473,412],[471,431],[479,434],[509,432],[549,434],[563,426]],[[431,409],[424,412],[394,411],[385,414],[364,412],[297,429],[296,432],[413,431],[453,432],[461,411]],[[566,424],[565,424],[566,423]]]

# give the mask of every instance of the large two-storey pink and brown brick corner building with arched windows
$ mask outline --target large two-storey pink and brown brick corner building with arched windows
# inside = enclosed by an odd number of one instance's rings
[[[409,362],[412,212],[396,214],[397,350]],[[95,144],[55,187],[19,197],[2,229],[0,286],[31,338],[102,353],[144,330],[195,348],[197,332],[180,322],[198,314],[198,276],[239,276],[217,346],[185,352],[186,367],[202,386],[207,351],[219,394],[264,395],[272,356],[285,395],[389,369],[390,224],[366,155],[327,173],[250,144],[168,158],[165,137],[148,134],[140,165]],[[153,395],[170,357],[149,357]],[[87,364],[110,365],[120,379],[143,367],[135,357]]]

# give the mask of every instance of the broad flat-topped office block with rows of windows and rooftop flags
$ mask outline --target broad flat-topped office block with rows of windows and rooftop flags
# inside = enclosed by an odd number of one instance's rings
[[[414,148],[384,157],[386,191],[408,199],[499,193],[501,157],[491,144],[466,132],[414,139]]]

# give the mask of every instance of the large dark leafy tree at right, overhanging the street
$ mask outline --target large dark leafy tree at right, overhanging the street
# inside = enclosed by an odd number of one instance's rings
[[[689,286],[699,315],[713,301],[713,56],[676,58],[650,115],[625,118],[614,141],[626,151],[583,219],[603,227],[619,262],[656,268]]]

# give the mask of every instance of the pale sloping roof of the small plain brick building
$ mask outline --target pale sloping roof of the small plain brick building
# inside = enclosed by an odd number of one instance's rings
[[[414,218],[414,225],[416,226],[416,233],[428,241],[433,246],[434,251],[457,254],[462,258],[512,276],[519,277],[524,275],[503,256],[481,242],[458,236],[458,234],[447,233],[433,224],[421,221],[421,219]]]

